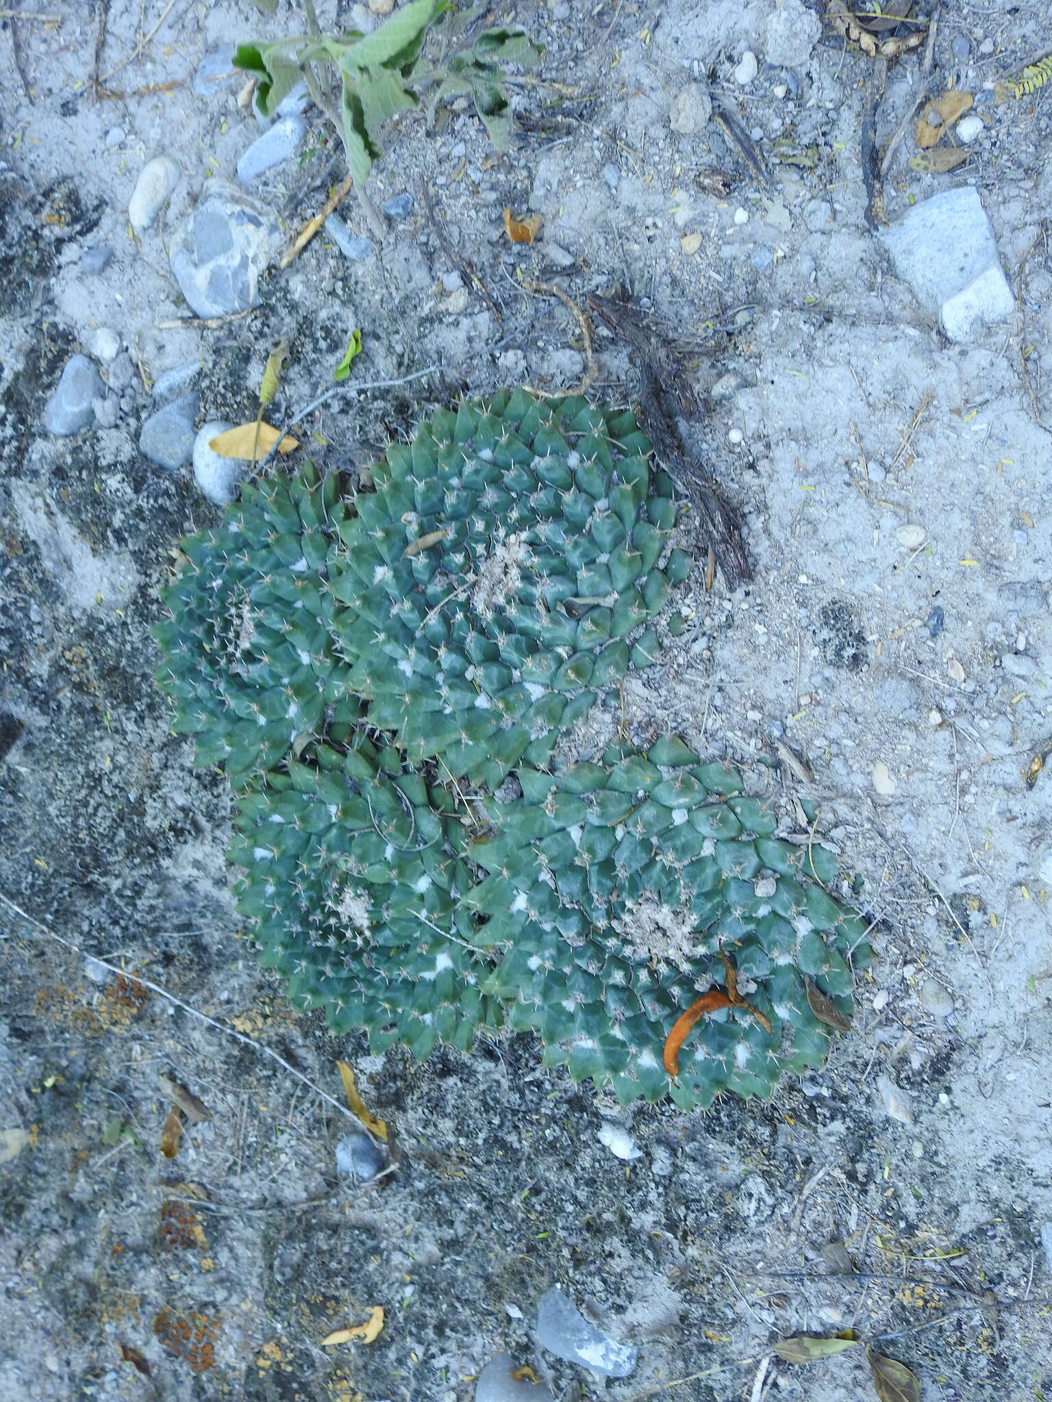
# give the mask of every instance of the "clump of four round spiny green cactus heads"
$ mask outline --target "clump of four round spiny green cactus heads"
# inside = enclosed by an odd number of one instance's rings
[[[174,729],[231,782],[261,962],[373,1049],[530,1029],[623,1101],[770,1095],[821,1064],[805,980],[846,1014],[868,955],[832,855],[675,737],[572,763],[690,564],[634,418],[502,391],[370,478],[245,488],[184,543],[156,629]]]

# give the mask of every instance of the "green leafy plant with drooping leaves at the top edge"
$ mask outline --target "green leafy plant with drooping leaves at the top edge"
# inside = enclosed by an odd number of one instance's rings
[[[346,163],[356,185],[365,186],[379,158],[382,130],[398,112],[419,105],[422,94],[470,95],[494,143],[504,149],[511,129],[506,66],[536,67],[541,48],[522,29],[485,29],[471,35],[473,11],[454,13],[449,0],[412,0],[396,10],[372,34],[348,29],[324,35],[307,3],[310,31],[283,39],[238,45],[237,67],[258,77],[258,104],[271,114],[283,97],[307,79],[311,93],[339,132]],[[445,31],[445,53],[426,64],[425,45],[435,31]],[[335,77],[338,100],[325,94],[325,80]]]

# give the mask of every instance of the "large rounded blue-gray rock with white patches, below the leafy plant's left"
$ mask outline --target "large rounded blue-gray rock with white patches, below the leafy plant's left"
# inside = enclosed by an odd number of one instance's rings
[[[171,243],[171,271],[199,317],[247,311],[281,247],[278,216],[227,181],[209,181]]]

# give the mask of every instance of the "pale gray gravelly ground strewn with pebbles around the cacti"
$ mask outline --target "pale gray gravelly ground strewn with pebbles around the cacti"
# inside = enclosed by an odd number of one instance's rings
[[[229,53],[296,10],[0,11],[0,1391],[833,1402],[877,1395],[861,1345],[770,1350],[856,1329],[926,1402],[1049,1395],[1052,86],[996,91],[1046,7],[943,4],[885,73],[815,0],[509,0],[547,46],[509,151],[463,104],[400,118],[379,217],[348,196],[281,268],[341,153],[306,98],[264,132]],[[973,97],[933,147],[923,84]],[[752,582],[707,593],[699,545],[627,723],[816,799],[879,921],[854,1033],[769,1103],[617,1110],[523,1036],[330,1037],[257,967],[223,782],[151,681],[173,551],[236,489],[195,439],[255,416],[275,338],[283,422],[360,329],[300,432],[365,465],[459,393],[579,381],[523,279],[697,343],[686,432],[748,523]],[[171,1161],[159,1077],[210,1113]],[[574,1330],[606,1374],[546,1346]]]

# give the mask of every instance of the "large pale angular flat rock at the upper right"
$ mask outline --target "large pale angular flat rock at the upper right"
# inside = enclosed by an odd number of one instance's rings
[[[975,322],[1003,321],[1016,299],[997,257],[979,192],[964,185],[915,205],[881,230],[895,272],[937,315],[951,341],[969,341]]]

